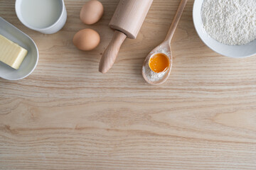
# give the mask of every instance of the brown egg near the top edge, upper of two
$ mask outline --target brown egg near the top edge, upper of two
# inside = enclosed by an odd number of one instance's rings
[[[102,18],[104,8],[100,1],[87,1],[80,11],[80,20],[88,25],[97,23]]]

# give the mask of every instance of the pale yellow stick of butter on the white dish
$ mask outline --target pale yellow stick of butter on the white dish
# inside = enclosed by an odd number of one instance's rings
[[[20,67],[28,50],[0,35],[0,61],[14,69]]]

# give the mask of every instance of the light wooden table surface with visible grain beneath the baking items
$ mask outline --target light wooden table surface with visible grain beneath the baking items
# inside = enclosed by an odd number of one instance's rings
[[[102,20],[85,26],[85,0],[65,0],[67,23],[53,35],[29,30],[15,1],[0,1],[0,16],[30,35],[40,53],[26,79],[0,79],[0,169],[255,170],[255,56],[232,59],[206,47],[189,0],[171,43],[171,77],[146,84],[144,57],[164,40],[179,4],[155,0],[138,38],[125,40],[114,67],[101,74],[118,0],[101,1]],[[73,45],[83,28],[100,33],[95,50]]]

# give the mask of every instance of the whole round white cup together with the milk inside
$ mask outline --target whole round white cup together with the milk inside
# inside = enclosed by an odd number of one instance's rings
[[[16,0],[15,10],[24,26],[45,34],[58,32],[67,20],[64,0]]]

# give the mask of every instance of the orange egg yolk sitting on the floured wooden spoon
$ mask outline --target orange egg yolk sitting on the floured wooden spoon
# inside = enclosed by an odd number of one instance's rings
[[[165,72],[169,67],[169,60],[166,55],[158,53],[149,60],[149,67],[153,72]]]

